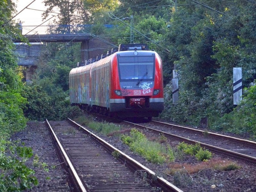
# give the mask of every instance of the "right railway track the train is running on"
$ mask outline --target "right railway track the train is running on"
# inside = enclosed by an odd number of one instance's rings
[[[164,134],[167,138],[184,141],[189,144],[199,143],[201,146],[213,151],[214,153],[240,159],[247,163],[256,164],[256,142],[253,141],[159,121],[140,124],[128,121],[124,122],[132,124],[135,127],[151,130],[157,134]]]

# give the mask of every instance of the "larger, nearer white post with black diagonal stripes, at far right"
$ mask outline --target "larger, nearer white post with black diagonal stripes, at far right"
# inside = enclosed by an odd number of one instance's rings
[[[233,101],[238,105],[242,100],[242,68],[233,68]]]

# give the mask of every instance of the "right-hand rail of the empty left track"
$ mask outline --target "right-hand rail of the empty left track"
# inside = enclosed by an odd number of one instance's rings
[[[157,184],[158,185],[160,184],[160,187],[163,188],[164,190],[166,190],[168,192],[183,192],[182,190],[180,190],[176,186],[172,185],[169,181],[165,180],[162,177],[157,176],[155,172],[151,171],[150,169],[148,169],[144,165],[140,164],[138,161],[132,159],[130,156],[124,154],[122,151],[120,151],[119,149],[115,148],[114,146],[112,146],[111,144],[106,142],[105,140],[102,140],[100,137],[98,137],[94,133],[90,132],[89,130],[87,130],[83,126],[77,124],[75,121],[73,121],[73,120],[68,118],[68,122],[70,122],[71,124],[77,126],[80,129],[82,129],[86,134],[89,134],[92,138],[95,139],[95,141],[97,141],[98,143],[103,145],[103,147],[108,152],[110,152],[110,153],[112,153],[114,151],[118,152],[119,153],[118,158],[120,160],[122,160],[123,162],[125,162],[125,164],[129,164],[128,166],[131,169],[133,169],[133,170],[143,170],[145,172],[148,172],[148,174],[150,176],[150,179],[152,179],[152,181],[154,182],[154,178],[156,178]]]

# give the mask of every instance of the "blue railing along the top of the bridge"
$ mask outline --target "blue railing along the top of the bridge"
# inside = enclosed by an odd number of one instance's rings
[[[29,25],[22,26],[23,35],[33,34],[84,34],[90,33],[94,25]],[[116,25],[103,25],[106,28],[113,28]]]

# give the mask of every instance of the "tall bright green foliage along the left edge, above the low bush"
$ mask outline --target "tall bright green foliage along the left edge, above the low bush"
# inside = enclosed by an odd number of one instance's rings
[[[23,84],[17,75],[17,57],[12,43],[13,38],[24,38],[14,22],[10,21],[15,11],[14,4],[1,1],[0,8],[0,131],[3,136],[25,127],[22,106],[26,100],[20,95]]]

